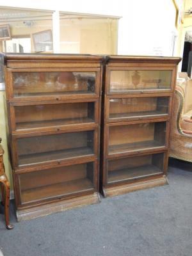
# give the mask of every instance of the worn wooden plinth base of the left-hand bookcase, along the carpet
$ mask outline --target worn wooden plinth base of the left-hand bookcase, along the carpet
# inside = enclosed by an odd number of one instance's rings
[[[17,221],[31,220],[52,213],[82,207],[84,205],[97,204],[99,202],[99,193],[93,193],[92,195],[79,196],[72,199],[62,200],[60,202],[53,202],[52,204],[39,205],[30,209],[18,209],[16,211],[16,216]]]

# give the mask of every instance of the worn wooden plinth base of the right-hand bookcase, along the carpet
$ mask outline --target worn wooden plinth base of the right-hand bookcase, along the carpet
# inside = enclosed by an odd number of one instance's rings
[[[138,181],[130,184],[124,184],[120,186],[113,186],[113,187],[105,187],[103,188],[103,194],[104,196],[117,196],[122,195],[128,192],[137,191],[140,189],[147,189],[147,188],[154,188],[156,186],[163,186],[165,184],[168,184],[168,180],[165,176],[151,179],[151,180],[145,180],[145,181]]]

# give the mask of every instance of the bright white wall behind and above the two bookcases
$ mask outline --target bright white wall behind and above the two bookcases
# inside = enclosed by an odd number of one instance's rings
[[[0,6],[122,16],[118,54],[172,54],[176,13],[172,0],[0,0]]]

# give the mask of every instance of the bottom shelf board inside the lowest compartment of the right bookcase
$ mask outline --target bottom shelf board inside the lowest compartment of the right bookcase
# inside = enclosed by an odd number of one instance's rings
[[[153,164],[146,164],[144,166],[137,166],[134,168],[125,168],[108,172],[108,182],[118,182],[129,179],[140,179],[152,175],[162,174],[163,171]]]

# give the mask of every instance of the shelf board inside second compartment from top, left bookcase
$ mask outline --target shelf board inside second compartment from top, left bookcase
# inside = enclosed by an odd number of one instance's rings
[[[88,117],[68,118],[68,119],[45,120],[45,121],[36,121],[36,122],[22,122],[22,123],[17,123],[16,127],[17,127],[17,130],[22,130],[22,129],[33,129],[33,128],[41,128],[41,127],[58,126],[58,125],[84,124],[84,123],[92,123],[92,122],[94,122],[94,120]]]

